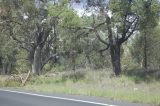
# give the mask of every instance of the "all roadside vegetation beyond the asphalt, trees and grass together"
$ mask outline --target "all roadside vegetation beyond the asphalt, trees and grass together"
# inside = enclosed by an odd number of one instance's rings
[[[0,87],[160,106],[160,1],[107,1],[0,0]]]

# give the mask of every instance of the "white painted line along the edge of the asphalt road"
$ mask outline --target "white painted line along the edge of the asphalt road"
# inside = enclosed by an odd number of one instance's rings
[[[56,96],[47,96],[47,95],[41,95],[41,94],[35,94],[35,93],[11,91],[11,90],[4,90],[4,89],[0,89],[0,91],[18,93],[18,94],[25,94],[25,95],[31,95],[31,96],[38,96],[38,97],[44,97],[44,98],[52,98],[52,99],[60,99],[60,100],[67,100],[67,101],[82,102],[82,103],[95,104],[95,105],[101,105],[101,106],[117,106],[117,105],[110,105],[110,104],[105,104],[105,103],[98,103],[98,102],[91,102],[91,101],[71,99],[71,98],[63,98],[63,97],[56,97]]]

